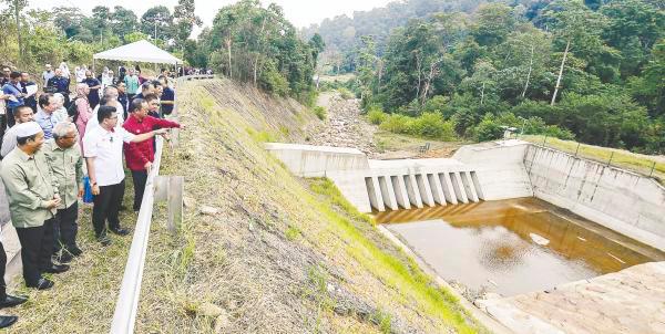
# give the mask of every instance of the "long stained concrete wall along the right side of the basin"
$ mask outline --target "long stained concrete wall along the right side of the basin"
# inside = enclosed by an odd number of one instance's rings
[[[651,178],[530,145],[535,197],[665,250],[665,188]]]

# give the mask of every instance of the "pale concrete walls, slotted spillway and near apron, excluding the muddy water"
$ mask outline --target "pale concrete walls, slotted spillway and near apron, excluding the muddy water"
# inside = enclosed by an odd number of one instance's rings
[[[370,160],[357,149],[290,144],[267,144],[266,148],[297,176],[331,179],[361,212],[536,197],[665,251],[663,186],[628,170],[526,142],[468,145],[449,159]],[[508,332],[663,332],[665,313],[653,311],[662,310],[665,300],[663,274],[665,262],[646,263],[552,291],[474,303]],[[469,310],[484,319],[477,309]],[[492,321],[483,323],[492,331],[504,330]]]

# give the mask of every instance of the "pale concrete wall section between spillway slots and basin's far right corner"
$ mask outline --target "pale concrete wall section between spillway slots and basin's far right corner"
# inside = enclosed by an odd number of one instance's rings
[[[467,145],[460,147],[452,158],[477,171],[485,200],[531,197],[533,190],[524,168],[529,146],[521,140]]]

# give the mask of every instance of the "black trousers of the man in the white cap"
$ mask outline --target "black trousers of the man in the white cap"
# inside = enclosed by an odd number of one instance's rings
[[[21,242],[23,279],[27,284],[37,285],[42,278],[42,270],[53,264],[53,218],[40,227],[17,228],[17,234]]]

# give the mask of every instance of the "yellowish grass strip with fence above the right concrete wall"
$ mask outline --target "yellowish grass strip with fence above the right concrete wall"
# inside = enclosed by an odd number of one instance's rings
[[[538,145],[543,145],[552,148],[556,148],[566,153],[575,154],[577,150],[577,142],[562,140],[557,138],[548,137],[545,142],[544,136],[522,136],[521,139],[531,142]],[[625,168],[637,174],[648,176],[652,174],[653,177],[661,184],[665,184],[665,158],[654,157],[641,154],[634,154],[624,149],[616,149],[610,147],[593,146],[586,144],[580,144],[577,152],[580,157],[607,164],[612,158],[612,166]],[[654,165],[655,163],[655,165]]]

